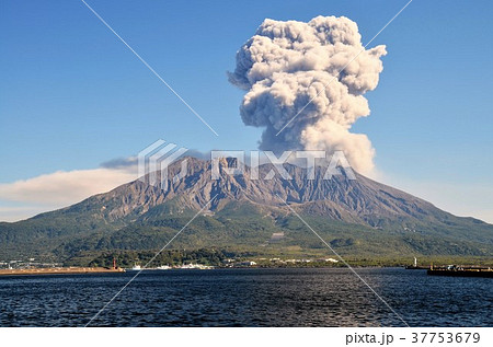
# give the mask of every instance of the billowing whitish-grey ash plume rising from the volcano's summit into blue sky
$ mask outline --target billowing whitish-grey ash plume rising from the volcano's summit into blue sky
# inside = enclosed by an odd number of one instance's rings
[[[265,20],[238,51],[229,80],[246,91],[243,123],[265,127],[260,149],[342,150],[356,171],[368,173],[371,142],[349,130],[370,113],[363,95],[377,86],[386,54],[385,46],[365,49],[356,23],[344,16]]]

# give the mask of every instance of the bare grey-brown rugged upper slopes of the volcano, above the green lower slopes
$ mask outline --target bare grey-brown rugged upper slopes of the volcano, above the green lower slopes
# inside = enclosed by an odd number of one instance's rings
[[[360,225],[365,230],[389,233],[451,238],[457,242],[485,244],[483,253],[492,248],[493,225],[473,218],[452,216],[425,200],[359,174],[356,174],[357,180],[348,180],[344,174],[323,180],[325,169],[317,167],[314,180],[308,180],[306,170],[285,165],[291,180],[283,180],[277,173],[272,180],[251,180],[248,167],[243,175],[236,176],[221,170],[220,178],[211,180],[210,161],[186,160],[186,176],[175,182],[170,180],[165,190],[135,181],[57,211],[16,223],[0,223],[0,252],[53,248],[74,239],[84,240],[88,235],[103,239],[112,233],[117,235],[121,230],[128,234],[137,227],[156,227],[158,220],[193,216],[191,213],[207,204],[205,212],[211,219],[226,215],[231,219],[236,213],[256,219],[268,216],[268,222],[282,229],[283,224],[277,222],[286,216],[293,217],[285,201],[300,216],[317,223],[336,222],[339,225]],[[225,165],[227,163],[222,161],[220,166]],[[181,161],[171,165],[169,177],[177,175],[181,167]],[[271,170],[272,166],[262,165],[259,176],[265,177]],[[180,223],[161,222],[159,225],[181,228]],[[219,224],[216,227],[220,229]],[[214,223],[207,228],[214,229]],[[266,225],[262,228],[268,229]],[[112,247],[106,243],[104,246]]]

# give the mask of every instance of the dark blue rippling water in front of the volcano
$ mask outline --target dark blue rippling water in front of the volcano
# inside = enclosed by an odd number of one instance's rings
[[[357,269],[411,326],[493,326],[493,280]],[[83,326],[135,273],[0,277],[1,326]],[[348,269],[142,271],[94,326],[402,326]]]

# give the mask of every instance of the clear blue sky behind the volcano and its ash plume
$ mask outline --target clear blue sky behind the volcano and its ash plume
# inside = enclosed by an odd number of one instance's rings
[[[345,15],[357,22],[366,43],[406,1],[88,3],[219,137],[81,1],[4,1],[0,184],[96,169],[159,138],[202,151],[255,149],[261,129],[242,124],[243,92],[226,71],[234,69],[236,51],[265,18]],[[492,10],[491,1],[414,0],[370,45],[385,44],[388,55],[379,85],[366,94],[371,115],[353,128],[376,148],[381,181],[489,221]],[[25,204],[0,199],[0,208]]]

